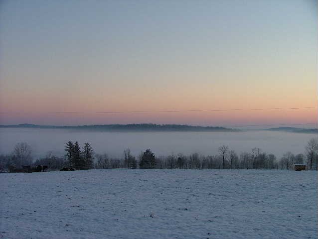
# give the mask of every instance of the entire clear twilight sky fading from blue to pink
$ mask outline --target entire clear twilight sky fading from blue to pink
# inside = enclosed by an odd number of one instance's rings
[[[0,124],[316,123],[317,36],[314,0],[1,0]]]

